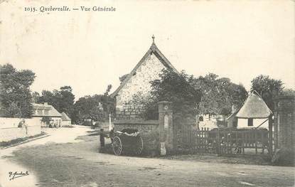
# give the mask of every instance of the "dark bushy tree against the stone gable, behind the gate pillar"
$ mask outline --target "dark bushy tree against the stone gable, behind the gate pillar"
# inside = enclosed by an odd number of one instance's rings
[[[173,103],[173,120],[193,123],[195,119],[196,104],[200,102],[200,91],[192,86],[193,76],[184,71],[180,74],[171,70],[163,70],[160,78],[151,81],[151,96],[144,104],[145,111],[141,117],[145,119],[158,118],[158,102],[170,101]]]

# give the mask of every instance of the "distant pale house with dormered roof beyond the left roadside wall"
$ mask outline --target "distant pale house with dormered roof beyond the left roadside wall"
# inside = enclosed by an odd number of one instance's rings
[[[32,118],[38,118],[42,125],[51,123],[60,127],[62,122],[62,114],[58,112],[52,105],[48,105],[47,102],[43,104],[33,103]]]

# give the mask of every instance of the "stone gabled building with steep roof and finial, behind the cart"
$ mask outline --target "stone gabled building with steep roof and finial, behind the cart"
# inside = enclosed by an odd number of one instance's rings
[[[135,68],[121,82],[111,97],[116,99],[116,119],[140,119],[139,114],[143,111],[143,105],[137,100],[144,100],[151,91],[151,80],[159,79],[163,69],[171,69],[178,73],[176,68],[157,48],[154,41],[143,58]]]

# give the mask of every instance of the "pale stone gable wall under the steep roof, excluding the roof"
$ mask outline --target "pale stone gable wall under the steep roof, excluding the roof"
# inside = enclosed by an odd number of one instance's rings
[[[151,53],[136,70],[132,78],[122,87],[116,96],[117,119],[139,119],[143,110],[140,101],[146,100],[151,91],[151,80],[159,79],[159,74],[165,66],[159,58]],[[137,102],[134,102],[137,96]]]

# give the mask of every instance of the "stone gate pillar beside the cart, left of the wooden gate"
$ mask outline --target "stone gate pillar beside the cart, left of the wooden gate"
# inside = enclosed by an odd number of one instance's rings
[[[166,155],[173,151],[173,111],[172,102],[161,101],[159,105],[160,153]]]

